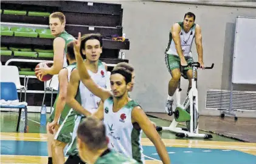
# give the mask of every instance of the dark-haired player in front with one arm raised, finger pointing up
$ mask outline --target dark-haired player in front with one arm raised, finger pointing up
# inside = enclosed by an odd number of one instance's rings
[[[170,164],[170,158],[161,137],[148,119],[139,104],[128,97],[131,89],[131,72],[125,68],[116,68],[111,72],[110,82],[112,93],[104,90],[91,79],[83,59],[80,56],[81,34],[75,41],[74,50],[77,59],[77,70],[81,82],[104,102],[103,110],[98,110],[94,116],[103,119],[108,126],[106,134],[109,137],[109,147],[119,153],[131,157],[139,163],[144,163],[142,145],[140,144],[143,130],[146,136],[156,146],[157,153],[165,164]]]

